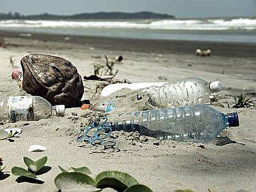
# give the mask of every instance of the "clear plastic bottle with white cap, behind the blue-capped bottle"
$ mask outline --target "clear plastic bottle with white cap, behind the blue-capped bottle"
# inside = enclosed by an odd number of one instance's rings
[[[204,104],[212,93],[220,92],[220,81],[207,83],[197,77],[188,77],[174,83],[166,83],[160,87],[149,87],[149,102],[157,108],[175,108],[190,104]]]

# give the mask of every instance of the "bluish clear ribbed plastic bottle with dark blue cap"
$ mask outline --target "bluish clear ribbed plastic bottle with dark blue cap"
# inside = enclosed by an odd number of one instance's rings
[[[237,113],[224,115],[205,105],[138,111],[113,122],[113,131],[139,131],[162,140],[208,142],[226,127],[239,126]]]

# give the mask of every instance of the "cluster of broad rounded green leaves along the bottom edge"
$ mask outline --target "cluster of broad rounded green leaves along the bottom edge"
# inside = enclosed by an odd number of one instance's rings
[[[55,185],[61,191],[83,190],[86,191],[102,191],[104,188],[113,188],[117,191],[141,191],[152,192],[147,186],[138,183],[134,177],[124,172],[106,171],[99,173],[95,180],[87,174],[91,174],[86,167],[70,168],[65,170],[59,166],[62,173],[55,178]]]

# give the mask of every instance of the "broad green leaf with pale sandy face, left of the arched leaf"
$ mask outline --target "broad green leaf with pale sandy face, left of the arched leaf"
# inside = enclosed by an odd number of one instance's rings
[[[92,177],[77,172],[60,173],[55,178],[54,183],[58,189],[61,189],[61,191],[63,191],[63,189],[67,191],[70,191],[70,189],[72,189],[72,191],[79,191],[86,188],[96,189],[92,188],[95,186],[95,181]],[[96,190],[99,191],[99,189]]]

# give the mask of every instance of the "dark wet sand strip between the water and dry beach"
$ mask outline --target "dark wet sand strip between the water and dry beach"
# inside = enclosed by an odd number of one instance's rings
[[[43,42],[65,42],[75,45],[88,45],[113,51],[144,52],[156,54],[195,55],[196,49],[211,49],[212,55],[236,58],[255,58],[256,44],[234,42],[196,42],[187,40],[143,40],[131,38],[111,38],[99,36],[52,35],[29,33],[32,36],[20,36],[13,31],[0,31],[0,37],[41,40]],[[68,37],[69,40],[65,40]],[[15,44],[12,44],[15,45]]]

